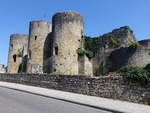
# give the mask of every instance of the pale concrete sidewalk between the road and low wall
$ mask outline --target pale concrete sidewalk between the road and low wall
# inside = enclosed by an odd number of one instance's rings
[[[0,82],[0,87],[11,88],[19,91],[24,91],[36,95],[55,98],[63,101],[77,103],[81,105],[91,106],[98,109],[112,111],[115,113],[150,113],[150,106],[135,104],[131,102],[112,100],[94,96],[63,92],[52,89],[39,88],[34,86],[26,86],[16,83]]]

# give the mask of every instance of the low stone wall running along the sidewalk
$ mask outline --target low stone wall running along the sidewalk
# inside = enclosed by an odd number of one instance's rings
[[[0,74],[0,81],[21,83],[74,93],[150,104],[150,87],[129,82],[121,76]]]

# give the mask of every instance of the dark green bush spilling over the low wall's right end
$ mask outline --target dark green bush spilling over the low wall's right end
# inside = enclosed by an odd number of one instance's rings
[[[123,67],[119,70],[119,72],[122,73],[123,77],[131,81],[144,84],[148,84],[150,82],[149,72],[141,67]]]

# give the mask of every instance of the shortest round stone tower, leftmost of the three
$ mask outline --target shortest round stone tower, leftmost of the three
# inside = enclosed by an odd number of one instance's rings
[[[28,35],[12,34],[10,36],[8,54],[8,73],[18,73],[19,67],[23,63],[23,57],[27,55]]]

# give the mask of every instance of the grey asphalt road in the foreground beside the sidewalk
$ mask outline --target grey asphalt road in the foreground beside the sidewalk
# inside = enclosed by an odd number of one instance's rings
[[[0,113],[110,113],[100,109],[0,87]]]

